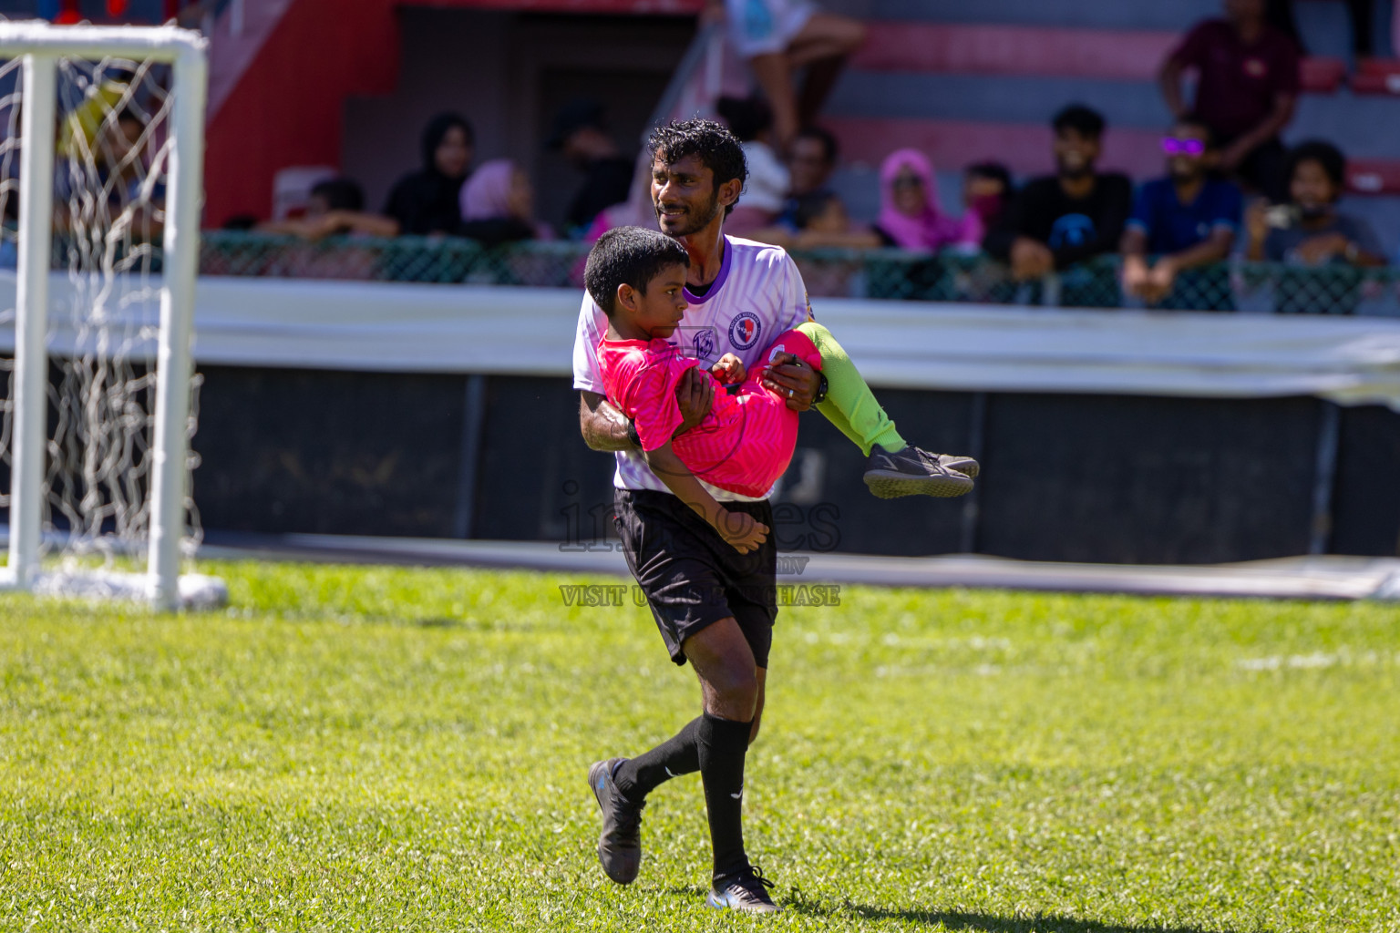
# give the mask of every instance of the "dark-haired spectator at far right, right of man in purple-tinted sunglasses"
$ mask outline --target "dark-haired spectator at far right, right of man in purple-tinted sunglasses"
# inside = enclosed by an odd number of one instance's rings
[[[1287,204],[1260,203],[1249,211],[1250,260],[1312,269],[1302,276],[1280,273],[1274,294],[1280,313],[1355,313],[1361,277],[1354,270],[1386,264],[1371,225],[1337,210],[1345,175],[1341,150],[1309,140],[1288,154]]]

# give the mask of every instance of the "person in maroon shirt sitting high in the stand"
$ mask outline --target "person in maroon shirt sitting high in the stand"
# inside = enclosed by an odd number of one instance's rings
[[[1298,43],[1270,25],[1266,0],[1225,0],[1225,18],[1191,29],[1159,74],[1172,113],[1210,126],[1221,144],[1221,171],[1278,200],[1285,150],[1278,134],[1298,102]],[[1182,94],[1182,74],[1197,73],[1196,101]]]

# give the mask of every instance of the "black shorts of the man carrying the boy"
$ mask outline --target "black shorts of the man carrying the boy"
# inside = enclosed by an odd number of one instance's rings
[[[773,533],[739,554],[689,505],[669,492],[615,490],[613,505],[627,567],[647,594],[671,660],[686,663],[680,645],[706,625],[734,617],[759,667],[769,666],[777,618],[777,546]],[[762,502],[725,502],[773,527]]]

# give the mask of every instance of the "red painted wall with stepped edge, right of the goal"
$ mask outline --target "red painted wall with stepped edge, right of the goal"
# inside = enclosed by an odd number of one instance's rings
[[[204,225],[267,217],[273,175],[339,165],[344,101],[399,74],[393,0],[293,0],[207,130]]]

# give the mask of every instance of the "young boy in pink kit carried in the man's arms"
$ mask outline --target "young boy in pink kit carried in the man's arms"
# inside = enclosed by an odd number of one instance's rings
[[[743,554],[757,547],[769,529],[743,512],[727,511],[706,484],[764,497],[792,460],[798,414],[787,407],[785,397],[762,385],[760,371],[745,372],[738,357],[725,354],[710,368],[724,389],[715,392],[710,413],[690,431],[672,436],[683,421],[675,401],[676,383],[700,362],[666,343],[687,308],[689,264],[680,243],[641,227],[619,227],[598,241],[584,270],[588,292],[608,315],[598,362],[608,400],[633,420],[657,477]],[[826,376],[829,390],[819,407],[843,434],[853,441],[875,438],[889,452],[907,448],[826,327],[809,320],[778,334],[764,359],[776,365],[790,355]],[[881,498],[956,497],[972,490],[976,460],[939,464],[937,455],[909,449],[937,469],[921,477],[867,470],[871,492]]]

